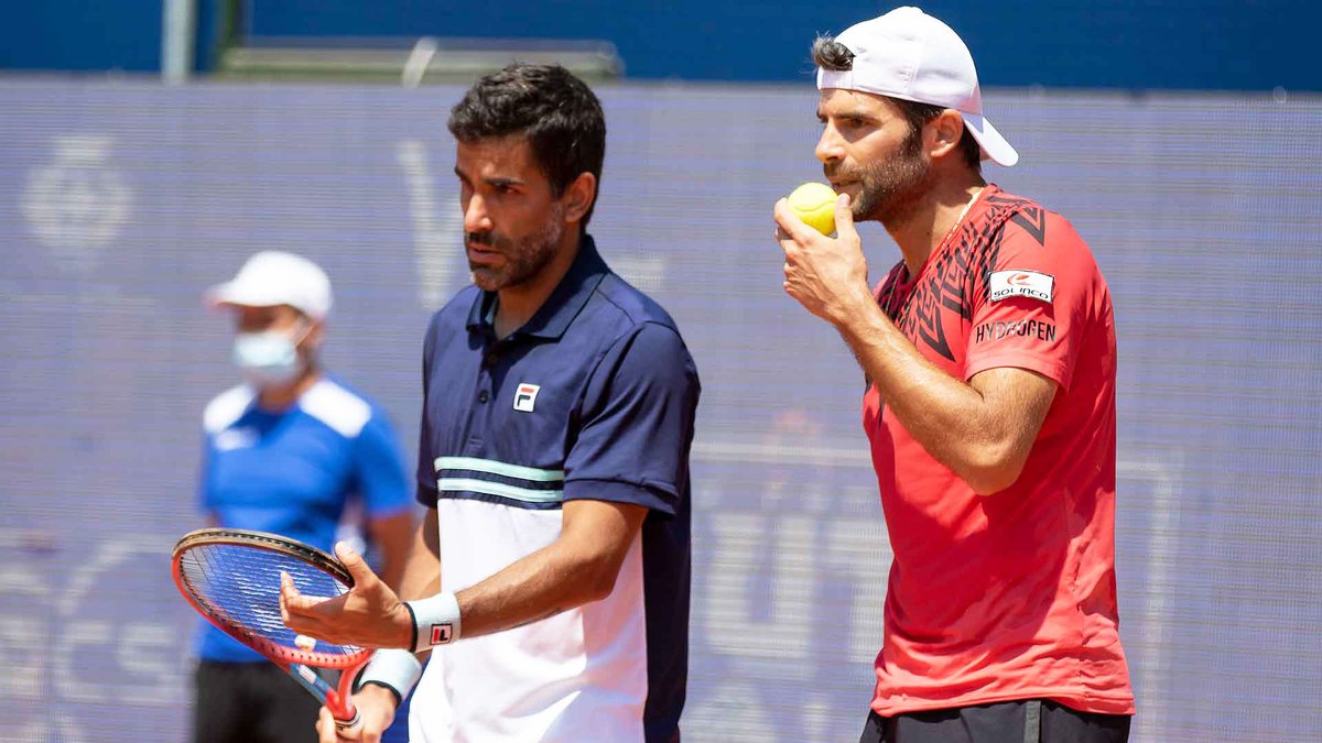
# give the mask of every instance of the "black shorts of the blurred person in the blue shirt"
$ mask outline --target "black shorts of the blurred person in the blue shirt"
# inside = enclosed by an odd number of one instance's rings
[[[194,682],[193,743],[317,740],[321,705],[275,664],[202,661]]]

